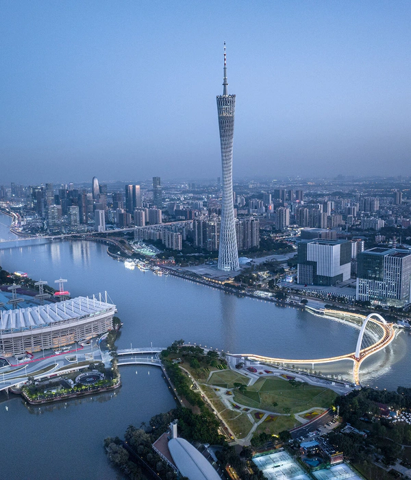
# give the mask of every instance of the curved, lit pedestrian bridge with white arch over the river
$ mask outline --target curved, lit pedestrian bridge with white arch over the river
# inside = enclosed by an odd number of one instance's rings
[[[315,313],[315,311],[312,311]],[[326,311],[327,317],[334,320],[343,319],[345,321],[361,324],[360,334],[356,345],[356,351],[347,355],[338,355],[338,357],[328,357],[323,359],[279,359],[274,357],[263,357],[262,355],[242,354],[233,355],[234,357],[245,357],[253,361],[264,363],[290,363],[290,364],[309,364],[314,368],[315,363],[333,363],[341,360],[353,361],[353,381],[360,385],[360,365],[364,359],[374,355],[383,348],[386,348],[395,337],[394,324],[387,323],[379,313],[370,313],[367,317],[357,313],[344,313],[340,311]],[[335,315],[335,317],[331,317]]]

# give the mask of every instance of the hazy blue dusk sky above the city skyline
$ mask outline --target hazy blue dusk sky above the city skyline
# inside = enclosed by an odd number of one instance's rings
[[[406,1],[3,2],[3,182],[408,174]],[[252,166],[252,167],[251,167]]]

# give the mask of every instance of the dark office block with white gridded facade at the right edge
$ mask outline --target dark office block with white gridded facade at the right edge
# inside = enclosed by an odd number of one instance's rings
[[[410,303],[411,252],[371,248],[359,252],[357,300],[403,307]]]

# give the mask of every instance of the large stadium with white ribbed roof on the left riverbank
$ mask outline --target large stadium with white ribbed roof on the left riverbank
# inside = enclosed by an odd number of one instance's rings
[[[116,306],[93,296],[1,311],[0,356],[59,349],[112,330]]]

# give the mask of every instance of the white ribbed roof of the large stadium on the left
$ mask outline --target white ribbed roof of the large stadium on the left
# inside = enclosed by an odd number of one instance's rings
[[[77,297],[55,304],[1,311],[0,331],[42,328],[112,311],[115,307],[114,304],[101,302],[97,298]]]

